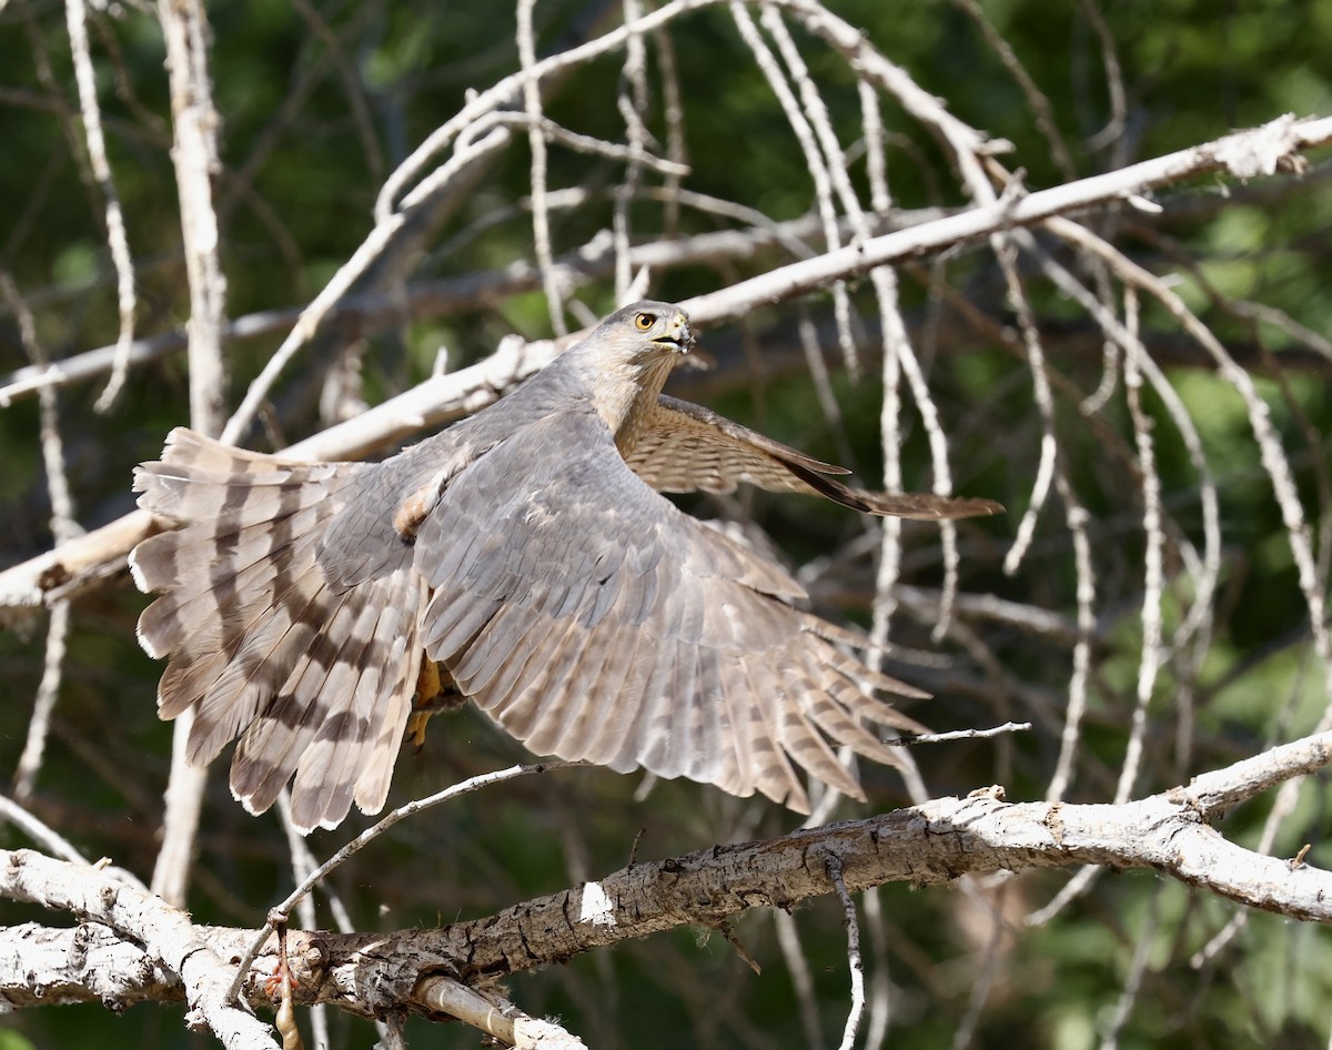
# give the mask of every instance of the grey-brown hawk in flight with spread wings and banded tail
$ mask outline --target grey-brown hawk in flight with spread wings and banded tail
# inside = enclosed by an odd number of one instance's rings
[[[850,795],[830,745],[892,762],[860,720],[918,694],[847,656],[786,572],[653,489],[738,481],[876,514],[982,500],[850,489],[842,468],[661,397],[693,337],[638,302],[514,393],[381,464],[294,462],[190,430],[135,476],[180,528],[131,554],[159,712],[194,709],[189,758],[240,737],[252,811],[293,777],[302,829],[378,811],[422,660],[537,754],[643,766],[807,811],[795,766]],[[429,664],[425,665],[428,669]]]

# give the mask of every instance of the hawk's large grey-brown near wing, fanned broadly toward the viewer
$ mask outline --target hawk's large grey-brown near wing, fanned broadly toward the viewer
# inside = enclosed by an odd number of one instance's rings
[[[428,656],[538,754],[807,811],[794,765],[863,797],[831,746],[892,764],[859,720],[918,728],[874,690],[919,693],[842,652],[785,572],[647,488],[590,409],[461,472],[416,557]]]

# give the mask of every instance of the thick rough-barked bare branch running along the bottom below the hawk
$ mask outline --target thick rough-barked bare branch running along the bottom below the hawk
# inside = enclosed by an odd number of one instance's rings
[[[330,1002],[366,1015],[430,1010],[433,986],[420,982],[432,971],[468,983],[490,981],[682,925],[715,926],[754,907],[790,909],[836,893],[829,858],[850,891],[1031,867],[1143,867],[1245,907],[1332,923],[1332,874],[1255,854],[1208,823],[1329,764],[1332,733],[1323,733],[1122,805],[1010,803],[999,789],[936,798],[779,839],[631,863],[599,881],[436,930],[290,931],[288,951],[301,1002]],[[0,895],[71,911],[85,923],[0,933],[0,995],[11,1006],[95,998],[124,1006],[184,995],[214,1031],[221,1026],[228,1046],[268,1045],[254,1042],[262,1026],[224,1006],[230,966],[252,931],[194,927],[184,913],[96,867],[31,850],[0,851]],[[589,910],[593,898],[599,903]],[[269,947],[244,974],[252,1005],[265,1002],[274,961]]]

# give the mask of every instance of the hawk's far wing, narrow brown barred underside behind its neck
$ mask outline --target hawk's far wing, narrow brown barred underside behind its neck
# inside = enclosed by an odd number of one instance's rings
[[[734,492],[743,481],[769,492],[823,496],[868,514],[918,521],[1003,510],[992,500],[854,489],[832,477],[848,474],[844,466],[811,458],[725,416],[665,394],[657,400],[627,462],[658,492]]]

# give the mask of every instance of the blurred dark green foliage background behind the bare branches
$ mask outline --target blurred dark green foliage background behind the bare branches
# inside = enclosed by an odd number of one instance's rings
[[[1026,171],[1027,185],[1054,185],[1066,177],[1022,91],[960,4],[844,0],[835,9],[863,27],[868,39],[959,117],[1012,141],[1015,149],[1006,163]],[[603,32],[619,19],[615,4],[575,0],[543,0],[535,12],[541,53]],[[1096,139],[1110,120],[1110,100],[1088,5],[1003,0],[984,4],[984,13],[1048,97],[1079,176],[1181,149],[1284,112],[1332,112],[1328,0],[1120,0],[1096,8],[1123,69],[1128,103],[1123,135],[1100,145]],[[256,0],[217,4],[209,12],[224,125],[225,171],[217,180],[222,261],[233,317],[308,301],[370,229],[370,209],[386,172],[464,104],[468,89],[485,88],[517,67],[514,15],[503,4],[334,1],[321,4],[318,16],[341,40],[341,69],[329,61],[326,45],[300,5]],[[92,19],[109,157],[140,280],[137,328],[143,334],[165,332],[185,321],[188,298],[163,40],[152,11],[137,4],[95,11]],[[803,35],[801,43],[827,87],[843,144],[854,141],[859,127],[854,83],[822,47]],[[677,23],[671,44],[693,165],[686,187],[778,220],[805,215],[811,208],[805,161],[725,8]],[[581,69],[547,100],[550,116],[583,133],[622,137],[614,107],[619,69],[618,57]],[[71,125],[61,119],[76,107],[61,5],[25,0],[0,9],[0,268],[28,298],[52,358],[111,344],[116,296],[101,205],[81,177],[83,153],[69,148],[77,121]],[[358,128],[352,113],[345,76],[361,85],[369,107],[366,127]],[[938,145],[891,104],[884,119],[896,204],[963,204]],[[651,128],[663,133],[659,109]],[[1329,333],[1332,197],[1327,161],[1313,160],[1315,172],[1300,184],[1275,180],[1265,189],[1263,184],[1227,189],[1220,180],[1200,180],[1166,193],[1167,211],[1159,219],[1124,213],[1098,221],[1143,265],[1180,274],[1187,301],[1261,373],[1260,389],[1296,466],[1305,508],[1320,528],[1328,509],[1324,434],[1332,430],[1328,361],[1304,350],[1287,332],[1223,309],[1217,298],[1263,302],[1315,333]],[[611,191],[621,175],[621,167],[610,161],[551,153],[553,188]],[[517,203],[527,193],[527,180],[525,149],[509,151],[441,232],[437,251],[414,277],[444,278],[531,259],[526,212],[513,209],[497,223],[474,227]],[[559,213],[557,251],[589,240],[609,225],[609,200]],[[637,236],[657,236],[663,223],[661,205],[635,207]],[[691,233],[711,229],[719,220],[685,209],[679,224],[681,233]],[[755,269],[762,265],[754,264]],[[960,252],[944,265],[950,286],[998,322],[1011,322],[988,252]],[[743,274],[694,266],[662,273],[651,290],[681,298],[737,276]],[[856,304],[872,317],[866,290],[856,290]],[[1084,328],[1086,318],[1039,280],[1031,280],[1028,294],[1052,340],[1052,368],[1074,389],[1090,393],[1099,381],[1099,349],[1060,353],[1072,344],[1058,341]],[[613,305],[607,282],[589,285],[579,298],[593,313]],[[903,274],[903,302],[912,317],[930,317],[930,290],[910,272]],[[826,298],[813,297],[810,309],[826,318]],[[750,330],[763,345],[763,338],[789,333],[793,318],[789,310],[765,310],[751,318]],[[1176,744],[1177,696],[1163,686],[1151,708],[1150,764],[1139,794],[1309,729],[1327,700],[1321,669],[1309,652],[1308,612],[1280,513],[1243,406],[1201,356],[1187,349],[1163,310],[1144,305],[1143,325],[1155,340],[1150,345],[1171,364],[1172,382],[1217,473],[1227,562],[1217,629],[1197,676],[1189,746]],[[456,368],[488,354],[507,332],[538,337],[547,328],[545,301],[530,293],[370,333],[361,346],[364,394],[374,402],[425,377],[441,345]],[[738,328],[709,337],[718,354],[731,360],[726,354],[739,344]],[[229,345],[229,404],[238,402],[274,345],[274,338]],[[940,336],[922,348],[952,442],[958,490],[1002,500],[1011,509],[1007,520],[963,528],[963,589],[1071,617],[1072,558],[1058,504],[1044,512],[1023,570],[1015,577],[999,570],[1030,500],[1039,452],[1030,373],[979,334],[960,341]],[[252,436],[256,446],[282,444],[321,425],[312,392],[334,350],[325,345],[321,352],[325,358],[301,358],[278,392],[270,432]],[[0,377],[25,362],[15,318],[5,312],[0,314]],[[872,480],[880,469],[882,390],[872,378],[875,368],[858,380],[835,377],[846,416],[840,438],[817,412],[805,373],[726,370],[731,384],[714,385],[707,400],[814,454],[839,458],[850,448],[854,462],[848,465]],[[742,378],[735,380],[737,374]],[[705,381],[681,378],[678,389],[686,396]],[[164,434],[188,420],[180,356],[136,369],[120,402],[105,414],[92,408],[100,389],[100,382],[79,384],[60,396],[71,484],[79,520],[87,526],[132,506],[133,464],[155,457]],[[1156,438],[1167,506],[1183,533],[1196,540],[1196,477],[1159,402],[1151,394],[1147,402],[1160,417]],[[1122,398],[1107,406],[1103,418],[1111,433],[1131,442]],[[926,442],[918,426],[908,426],[908,481],[927,488]],[[1135,480],[1068,398],[1060,402],[1059,426],[1075,488],[1094,514],[1100,581],[1087,756],[1072,799],[1104,801],[1114,791],[1134,704],[1143,536]],[[0,565],[19,562],[52,542],[37,429],[33,400],[0,409]],[[741,501],[797,562],[825,554],[863,529],[855,516],[797,500],[746,494]],[[691,506],[726,512],[705,501]],[[906,542],[906,582],[936,586],[934,533],[908,528]],[[871,580],[872,568],[862,560],[836,578],[838,586],[822,594],[817,590],[815,597],[826,610],[863,622]],[[1171,601],[1169,616],[1177,618],[1179,596]],[[135,644],[133,622],[143,605],[121,582],[76,606],[57,721],[33,809],[89,857],[111,855],[147,877],[157,845],[170,728],[157,721],[153,709],[160,668]],[[1067,645],[1002,625],[976,625],[976,632],[1002,662],[1003,674],[987,672],[954,641],[930,642],[927,624],[910,618],[902,624],[895,634],[900,644],[942,648],[947,656],[942,669],[912,678],[939,696],[918,713],[938,729],[1010,717],[1032,720],[1035,729],[1022,738],[927,752],[920,756],[927,781],[936,793],[1002,782],[1010,798],[1039,798],[1058,754],[1070,674]],[[0,770],[13,769],[23,746],[41,676],[41,633],[0,634],[0,668],[12,698],[0,710]],[[437,721],[424,753],[404,754],[390,803],[521,754],[478,716]],[[864,777],[874,807],[904,802],[887,772],[864,770]],[[213,780],[190,905],[198,921],[254,925],[289,889],[286,846],[276,818],[246,815],[228,797],[224,781],[221,773]],[[601,770],[567,770],[472,795],[400,826],[390,841],[338,873],[337,890],[360,929],[449,922],[614,870],[626,862],[639,829],[645,829],[641,855],[665,857],[719,841],[779,834],[798,822],[775,807],[689,784],[659,784],[639,801],[633,797],[637,782]],[[1300,810],[1287,823],[1288,834],[1276,845],[1279,854],[1293,854],[1311,842],[1311,863],[1332,862],[1323,841],[1325,799],[1321,781],[1304,791]],[[1260,801],[1232,814],[1225,833],[1252,843],[1267,805]],[[855,811],[847,806],[840,813]],[[338,833],[312,835],[316,855],[332,853],[364,823],[354,819]],[[12,829],[0,835],[5,845],[27,845]],[[887,979],[894,987],[892,1045],[922,1050],[954,1045],[986,971],[986,953],[995,951],[999,962],[988,997],[978,1006],[970,1046],[1095,1046],[1140,946],[1148,963],[1119,1034],[1120,1046],[1327,1045],[1332,941],[1325,930],[1253,914],[1228,949],[1195,967],[1193,953],[1235,909],[1144,873],[1103,877],[1048,926],[1023,929],[1023,917],[1066,879],[1066,873],[1027,874],[974,893],[883,887],[882,922],[868,923],[874,930],[867,935],[871,981]],[[1006,922],[995,938],[990,909],[998,909]],[[5,925],[64,921],[8,903],[0,906],[0,917]],[[321,918],[329,922],[326,914]],[[822,901],[801,909],[795,923],[821,1006],[819,1033],[826,1045],[835,1045],[848,985],[840,913]],[[562,1017],[591,1046],[805,1046],[771,917],[746,917],[738,935],[763,963],[762,974],[753,974],[723,938],[678,931],[521,975],[509,991],[533,1014]],[[333,1025],[338,1046],[373,1041],[360,1021],[334,1015]],[[206,1042],[186,1035],[180,1010],[166,1007],[135,1007],[120,1018],[96,1006],[51,1007],[9,1015],[0,1026],[3,1050]],[[408,1035],[413,1046],[477,1043],[470,1030],[432,1026],[420,1018],[409,1023]]]

